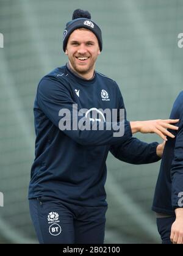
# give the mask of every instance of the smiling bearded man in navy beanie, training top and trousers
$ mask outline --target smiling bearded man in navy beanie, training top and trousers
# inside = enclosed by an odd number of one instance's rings
[[[29,205],[40,243],[103,243],[109,150],[121,161],[153,163],[160,159],[163,144],[146,144],[132,133],[157,133],[166,139],[167,135],[174,137],[167,128],[176,129],[170,124],[174,120],[129,123],[126,113],[121,120],[124,103],[117,83],[95,71],[102,35],[90,18],[88,12],[74,11],[63,32],[63,51],[69,62],[38,84]],[[82,122],[84,109],[88,110]],[[117,109],[117,122],[107,122],[99,109]],[[99,117],[89,118],[91,111]],[[74,112],[79,128],[75,127]],[[68,129],[69,122],[75,128]],[[67,128],[65,123],[69,123]],[[85,123],[94,129],[84,129]],[[107,129],[110,124],[113,128]],[[115,136],[121,124],[124,135]],[[104,126],[102,130],[98,129],[100,125]]]

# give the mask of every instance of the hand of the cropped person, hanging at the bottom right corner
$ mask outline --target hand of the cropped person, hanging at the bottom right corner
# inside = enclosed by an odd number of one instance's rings
[[[175,210],[176,220],[171,225],[170,240],[173,244],[183,244],[183,208]]]

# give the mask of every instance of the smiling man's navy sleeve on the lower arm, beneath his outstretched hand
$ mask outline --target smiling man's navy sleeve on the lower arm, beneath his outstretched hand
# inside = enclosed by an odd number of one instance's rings
[[[124,101],[119,89],[119,106],[124,108]],[[126,110],[125,110],[126,120]],[[156,154],[158,143],[152,142],[150,144],[142,142],[135,137],[129,137],[123,144],[115,144],[110,146],[110,152],[113,156],[121,161],[130,164],[149,164],[159,161],[161,158]]]

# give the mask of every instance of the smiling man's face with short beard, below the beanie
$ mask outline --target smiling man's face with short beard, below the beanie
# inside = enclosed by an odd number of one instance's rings
[[[66,55],[71,68],[86,79],[93,77],[95,62],[100,54],[98,39],[88,29],[76,29],[70,35]]]

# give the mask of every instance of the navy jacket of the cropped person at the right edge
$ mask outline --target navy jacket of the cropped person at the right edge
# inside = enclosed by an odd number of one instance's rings
[[[183,92],[176,98],[170,119],[179,119],[176,139],[168,137],[162,156],[152,210],[174,215],[181,207],[183,197]]]

